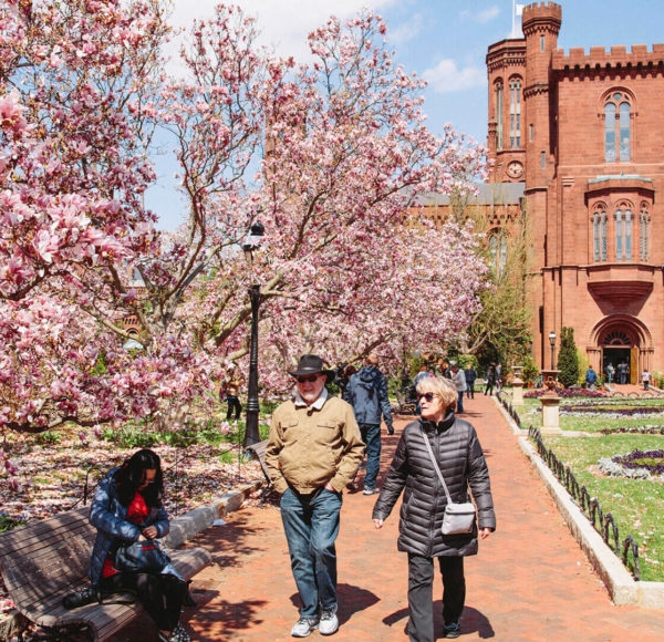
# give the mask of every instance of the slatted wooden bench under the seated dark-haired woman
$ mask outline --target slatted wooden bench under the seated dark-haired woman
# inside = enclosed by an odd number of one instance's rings
[[[87,571],[96,529],[90,506],[62,512],[0,535],[0,571],[17,609],[53,634],[79,630],[87,640],[105,640],[143,612],[128,593],[113,594],[102,604],[62,607],[62,598],[89,586]],[[211,561],[203,548],[168,550],[173,565],[190,579]],[[75,639],[68,633],[66,640]]]

